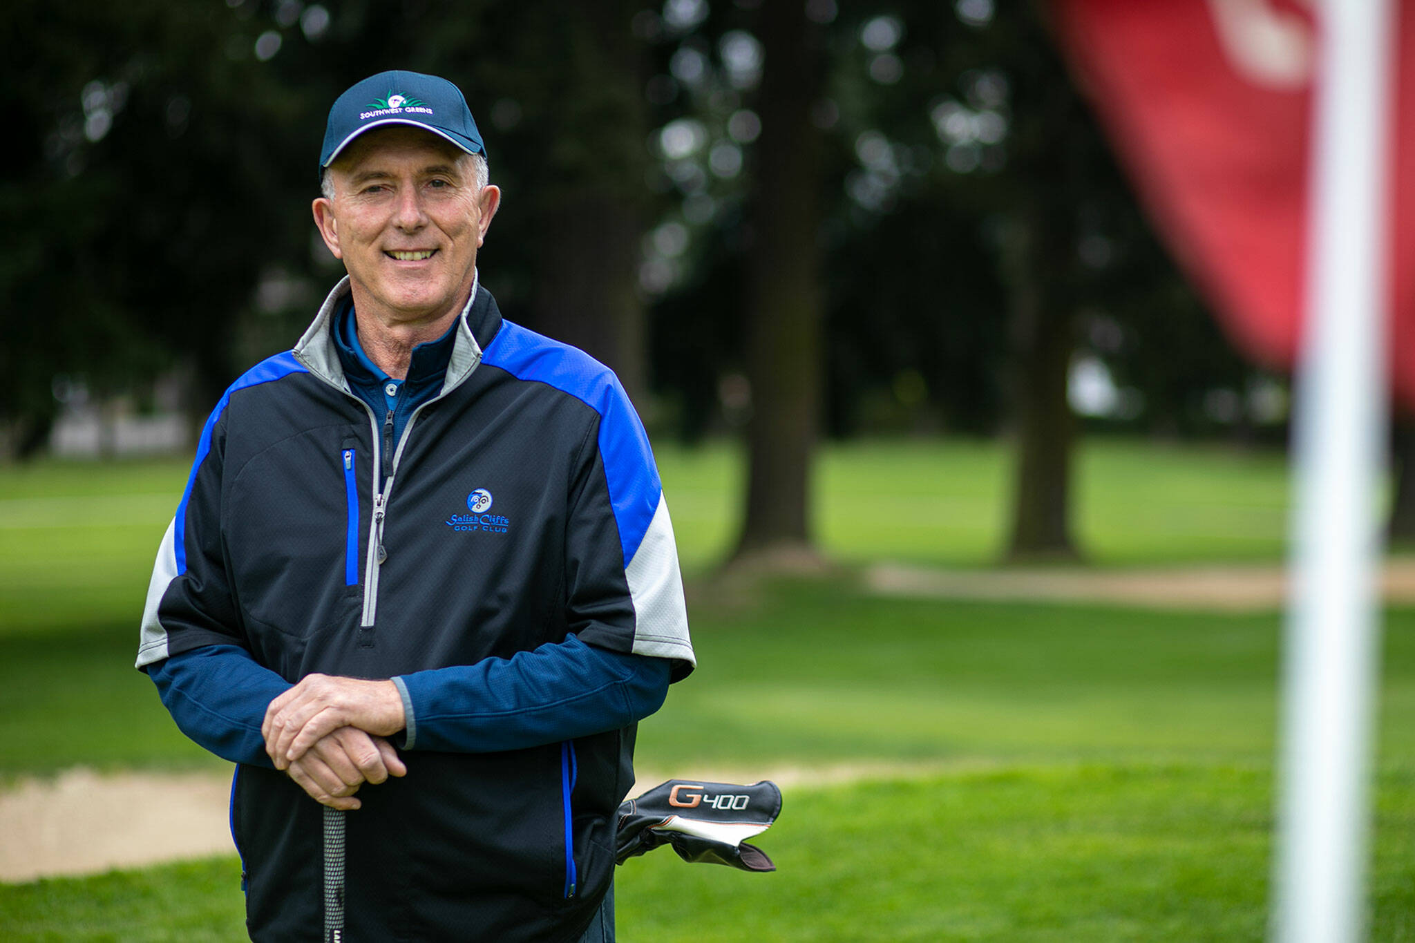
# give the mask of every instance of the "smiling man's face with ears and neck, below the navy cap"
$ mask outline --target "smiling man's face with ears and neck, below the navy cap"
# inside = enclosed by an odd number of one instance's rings
[[[461,310],[501,199],[477,188],[471,156],[416,127],[383,127],[355,139],[330,178],[334,198],[314,201],[314,222],[359,312],[393,325]]]

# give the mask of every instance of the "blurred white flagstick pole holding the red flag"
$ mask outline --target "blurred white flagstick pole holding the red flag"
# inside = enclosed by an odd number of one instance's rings
[[[1365,935],[1378,662],[1375,496],[1388,414],[1388,0],[1316,4],[1307,311],[1295,416],[1275,937]]]

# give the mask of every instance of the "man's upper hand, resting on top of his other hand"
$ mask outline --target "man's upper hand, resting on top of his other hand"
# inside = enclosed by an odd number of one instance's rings
[[[341,727],[389,737],[405,725],[403,698],[392,681],[310,674],[270,701],[260,735],[275,768],[287,769]]]

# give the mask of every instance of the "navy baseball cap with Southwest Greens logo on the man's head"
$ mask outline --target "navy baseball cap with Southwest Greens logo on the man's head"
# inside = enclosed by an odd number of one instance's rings
[[[485,156],[481,131],[461,90],[436,75],[379,72],[358,82],[334,100],[324,126],[320,151],[323,172],[350,141],[374,127],[412,124],[443,137],[468,154]]]

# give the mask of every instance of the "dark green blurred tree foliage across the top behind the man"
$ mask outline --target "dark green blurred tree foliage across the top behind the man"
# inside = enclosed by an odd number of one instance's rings
[[[348,83],[399,66],[468,93],[507,197],[483,266],[504,307],[599,345],[631,385],[651,345],[662,418],[691,435],[722,424],[719,377],[741,369],[756,238],[744,199],[760,154],[733,144],[741,170],[727,175],[706,156],[733,143],[732,115],[760,110],[751,82],[727,81],[722,47],[751,34],[760,10],[715,3],[674,27],[635,0],[327,7],[323,28],[301,18],[314,6],[275,0],[7,11],[0,423],[42,443],[57,377],[132,392],[174,363],[194,372],[204,411],[236,372],[287,345],[338,273],[311,249],[307,215],[324,112]],[[879,16],[900,27],[883,54],[862,42]],[[821,34],[828,430],[999,427],[1015,288],[1005,259],[1024,212],[1064,235],[1034,274],[1058,304],[1084,308],[1081,349],[1143,396],[1121,421],[1214,428],[1204,393],[1241,396],[1248,370],[1139,216],[1032,4],[998,4],[986,24],[948,3],[838,4]],[[280,40],[269,61],[258,37]],[[685,49],[706,64],[698,83],[671,76]],[[872,74],[879,55],[899,64],[889,81]],[[938,109],[955,106],[999,117],[1002,137],[951,144]],[[708,131],[688,182],[658,148],[657,130],[679,117]],[[713,212],[688,223],[666,293],[647,295],[645,339],[640,235],[682,222],[700,197]],[[272,279],[284,290],[258,298]]]

